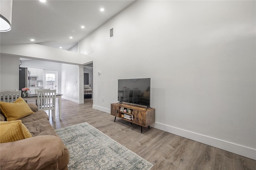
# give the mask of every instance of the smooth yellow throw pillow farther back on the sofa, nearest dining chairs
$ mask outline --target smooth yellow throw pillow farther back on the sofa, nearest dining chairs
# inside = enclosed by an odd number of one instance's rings
[[[14,103],[1,101],[0,108],[7,121],[15,121],[34,113],[22,97],[19,97]]]

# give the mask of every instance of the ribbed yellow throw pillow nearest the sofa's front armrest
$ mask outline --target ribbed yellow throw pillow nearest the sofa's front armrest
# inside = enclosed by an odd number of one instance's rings
[[[0,143],[14,142],[31,137],[31,133],[20,120],[0,122]]]

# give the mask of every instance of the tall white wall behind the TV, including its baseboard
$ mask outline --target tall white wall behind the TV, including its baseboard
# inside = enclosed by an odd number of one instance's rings
[[[255,1],[135,2],[79,43],[93,58],[93,107],[110,112],[118,79],[149,77],[153,127],[256,159],[255,11]]]

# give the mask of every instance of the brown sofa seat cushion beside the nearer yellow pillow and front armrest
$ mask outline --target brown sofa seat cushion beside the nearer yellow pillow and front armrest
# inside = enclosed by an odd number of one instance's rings
[[[40,135],[58,136],[46,118],[23,124],[26,126],[26,128],[28,128],[28,131],[32,134],[33,137]]]

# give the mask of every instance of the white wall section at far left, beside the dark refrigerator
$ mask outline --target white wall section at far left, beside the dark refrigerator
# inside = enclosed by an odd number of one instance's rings
[[[17,57],[0,55],[0,90],[19,89],[19,63]]]

